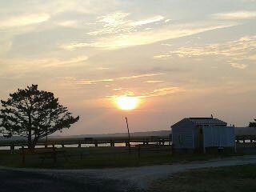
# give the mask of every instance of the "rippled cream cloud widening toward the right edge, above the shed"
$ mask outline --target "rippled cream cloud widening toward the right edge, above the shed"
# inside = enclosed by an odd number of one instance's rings
[[[155,59],[169,58],[178,56],[179,58],[191,58],[218,55],[226,58],[226,62],[230,63],[238,69],[246,69],[247,60],[255,60],[256,36],[245,36],[232,42],[221,44],[210,44],[206,46],[180,47],[178,50],[171,50],[166,54],[155,55]]]

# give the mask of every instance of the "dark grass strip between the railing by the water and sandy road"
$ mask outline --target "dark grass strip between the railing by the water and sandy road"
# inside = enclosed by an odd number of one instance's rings
[[[64,148],[66,157],[58,155],[57,163],[52,158],[40,159],[40,155],[27,155],[25,164],[22,164],[22,155],[16,150],[10,154],[9,150],[0,151],[0,166],[13,167],[38,167],[56,169],[79,169],[79,168],[102,168],[102,167],[125,167],[125,166],[150,166],[172,164],[175,162],[185,163],[192,161],[206,161],[213,158],[223,158],[234,155],[256,154],[255,148],[248,150],[245,147],[238,148],[238,153],[225,152],[223,154],[171,154],[170,148],[163,150],[129,150],[126,147],[86,147]]]

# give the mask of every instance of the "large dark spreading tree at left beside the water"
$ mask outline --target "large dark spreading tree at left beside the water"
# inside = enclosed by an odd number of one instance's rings
[[[30,149],[34,149],[39,138],[70,128],[79,120],[79,116],[74,118],[66,107],[58,103],[53,93],[38,90],[37,85],[18,89],[1,103],[2,134],[9,138],[13,135],[26,137]]]

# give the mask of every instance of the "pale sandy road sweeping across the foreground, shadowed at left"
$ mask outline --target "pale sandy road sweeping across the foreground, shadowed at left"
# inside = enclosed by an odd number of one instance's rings
[[[38,170],[0,167],[0,190],[5,191],[146,191],[151,182],[178,172],[256,163],[256,156],[208,162],[87,170]]]

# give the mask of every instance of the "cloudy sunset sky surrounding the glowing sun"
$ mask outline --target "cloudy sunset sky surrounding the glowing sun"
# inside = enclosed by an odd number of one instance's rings
[[[254,0],[0,0],[0,98],[38,84],[80,120],[62,135],[256,118]],[[139,98],[120,110],[120,95]]]

